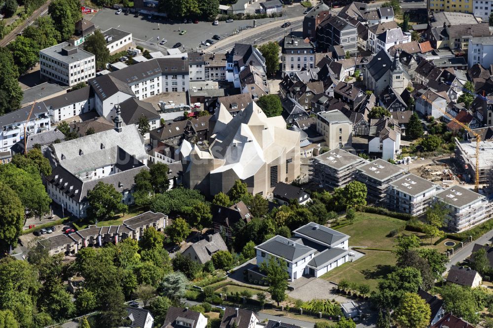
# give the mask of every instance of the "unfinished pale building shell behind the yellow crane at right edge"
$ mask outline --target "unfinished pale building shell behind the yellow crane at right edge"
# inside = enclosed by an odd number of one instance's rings
[[[493,164],[493,142],[481,141],[479,148],[479,184],[488,184]],[[466,182],[476,176],[476,141],[458,141],[456,138],[456,160],[465,172]]]

